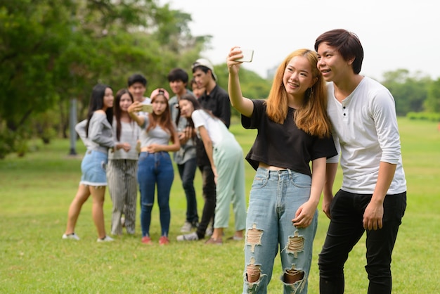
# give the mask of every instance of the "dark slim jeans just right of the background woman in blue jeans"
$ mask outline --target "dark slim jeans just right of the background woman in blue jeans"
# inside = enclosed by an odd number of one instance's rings
[[[195,198],[194,177],[197,170],[197,159],[186,160],[182,165],[177,165],[186,196],[186,222],[195,226],[199,222],[197,213],[197,199]]]

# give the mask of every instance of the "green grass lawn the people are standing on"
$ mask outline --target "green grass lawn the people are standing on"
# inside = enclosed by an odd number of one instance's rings
[[[408,207],[393,254],[394,293],[440,293],[440,132],[434,122],[399,119],[403,165],[408,181]],[[231,131],[244,153],[255,132],[233,124]],[[34,152],[24,158],[9,155],[0,160],[0,293],[240,293],[244,267],[243,242],[226,241],[206,246],[202,241],[177,243],[185,219],[186,200],[175,174],[170,200],[172,222],[168,246],[141,243],[136,236],[96,243],[91,200],[83,207],[76,233],[81,241],[62,240],[67,209],[81,175],[81,155],[69,157],[69,141],[54,140],[44,146],[31,144]],[[254,170],[246,166],[250,191]],[[337,175],[335,191],[341,174]],[[200,172],[195,179],[201,214]],[[105,222],[110,231],[112,203],[106,196]],[[318,293],[318,253],[328,219],[321,212],[313,246],[309,293]],[[152,238],[160,236],[157,203],[153,210]],[[233,218],[226,236],[233,234]],[[345,267],[345,293],[366,293],[364,238],[351,252]],[[279,257],[269,293],[281,293]]]

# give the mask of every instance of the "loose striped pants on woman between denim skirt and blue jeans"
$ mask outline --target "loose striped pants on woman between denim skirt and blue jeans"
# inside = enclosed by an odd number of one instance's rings
[[[125,216],[127,233],[134,234],[138,196],[138,161],[108,160],[107,181],[113,203],[111,234],[122,234],[122,215]]]

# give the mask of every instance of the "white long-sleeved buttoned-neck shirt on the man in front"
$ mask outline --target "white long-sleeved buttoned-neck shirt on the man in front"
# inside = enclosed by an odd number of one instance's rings
[[[330,82],[327,111],[335,146],[340,148],[342,190],[372,194],[380,162],[388,162],[396,165],[396,172],[387,194],[406,191],[394,98],[388,89],[363,77],[358,87],[339,102]],[[328,162],[337,160],[335,156]]]

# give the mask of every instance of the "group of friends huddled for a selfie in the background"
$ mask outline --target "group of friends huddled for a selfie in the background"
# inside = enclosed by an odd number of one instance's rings
[[[105,233],[104,226],[103,203],[105,186],[108,185],[113,204],[111,235],[121,235],[123,227],[127,229],[127,234],[135,233],[137,194],[140,191],[141,242],[153,243],[150,223],[157,194],[161,225],[159,243],[168,244],[171,221],[169,196],[174,181],[174,167],[169,153],[174,153],[173,160],[181,177],[187,204],[186,219],[181,227],[181,232],[186,234],[178,236],[177,241],[199,240],[207,234],[212,236],[207,244],[222,243],[223,229],[228,226],[231,200],[234,200],[237,219],[236,233],[232,238],[242,240],[246,215],[245,174],[242,150],[227,129],[231,120],[228,94],[216,84],[214,67],[209,60],[199,59],[197,64],[197,67],[193,66],[193,79],[190,82],[193,91],[187,88],[188,73],[185,70],[174,68],[169,72],[169,87],[175,94],[171,98],[163,88],[155,89],[150,97],[145,97],[147,79],[140,74],[131,75],[127,89],[120,89],[115,97],[112,88],[107,85],[98,84],[93,88],[88,118],[75,127],[87,151],[82,160],[82,180],[70,205],[63,238],[79,240],[75,225],[82,205],[92,195],[98,242],[113,241]],[[196,103],[193,110],[181,111],[183,100]],[[204,110],[210,119],[201,117],[195,125],[192,114],[194,110],[202,109],[197,104],[202,100],[207,101]],[[95,122],[96,117],[101,118],[99,124]],[[219,131],[224,139],[219,140]],[[231,142],[234,143],[233,149],[217,152],[226,146],[230,148]],[[224,147],[219,143],[223,143]],[[235,157],[230,159],[231,150],[235,151]],[[228,162],[234,165],[241,162],[238,166],[240,169],[228,165]],[[205,200],[201,219],[194,187],[198,167],[202,172]],[[229,172],[231,167],[237,172]],[[218,172],[224,174],[219,183]],[[235,178],[235,174],[238,177],[231,185],[230,179]],[[217,191],[221,191],[218,198]],[[219,210],[218,223],[214,222],[216,207]]]

